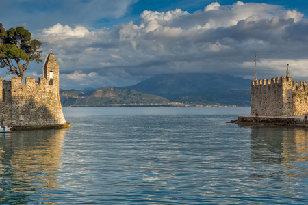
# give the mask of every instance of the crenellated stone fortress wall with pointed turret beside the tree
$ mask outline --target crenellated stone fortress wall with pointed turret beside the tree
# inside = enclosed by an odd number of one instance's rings
[[[59,64],[53,53],[47,55],[43,77],[0,78],[0,123],[14,127],[69,127],[62,113],[59,95]]]

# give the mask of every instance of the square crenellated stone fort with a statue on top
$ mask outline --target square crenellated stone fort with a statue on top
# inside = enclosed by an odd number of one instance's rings
[[[292,77],[277,77],[251,82],[251,115],[308,115],[306,81],[292,82]]]

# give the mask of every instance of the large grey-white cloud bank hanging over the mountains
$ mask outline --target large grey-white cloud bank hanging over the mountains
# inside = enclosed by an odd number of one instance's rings
[[[294,64],[293,77],[304,77],[300,72],[307,69],[307,19],[279,5],[214,2],[192,14],[181,9],[144,11],[140,19],[95,31],[56,24],[44,29],[40,39],[59,56],[67,81],[75,81],[75,76],[89,83],[101,79],[111,86],[172,72],[253,79],[255,51],[259,77],[284,75],[287,62]]]

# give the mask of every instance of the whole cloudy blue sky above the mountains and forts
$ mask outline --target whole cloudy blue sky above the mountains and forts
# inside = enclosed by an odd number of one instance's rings
[[[308,1],[1,0],[0,23],[53,49],[60,87],[127,86],[162,73],[308,80]],[[12,15],[13,14],[13,15]],[[26,76],[40,77],[31,62]],[[5,68],[0,77],[10,79]]]

